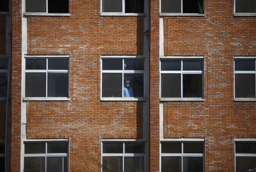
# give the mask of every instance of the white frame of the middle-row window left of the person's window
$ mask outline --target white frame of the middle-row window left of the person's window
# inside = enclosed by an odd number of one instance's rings
[[[70,92],[70,57],[69,55],[25,55],[25,66],[26,66],[26,59],[28,58],[41,58],[41,59],[46,59],[46,70],[24,70],[24,80],[26,79],[26,73],[46,73],[46,97],[25,97],[26,93],[26,81],[24,81],[24,89],[23,89],[23,100],[24,101],[29,101],[29,100],[49,100],[49,101],[68,101],[70,100],[69,98],[69,92]],[[68,59],[68,70],[48,70],[48,59]],[[65,73],[68,74],[68,97],[48,97],[48,73]]]

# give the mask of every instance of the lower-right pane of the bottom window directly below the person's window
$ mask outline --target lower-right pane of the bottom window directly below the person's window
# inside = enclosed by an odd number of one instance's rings
[[[125,157],[125,171],[144,171],[144,157]]]

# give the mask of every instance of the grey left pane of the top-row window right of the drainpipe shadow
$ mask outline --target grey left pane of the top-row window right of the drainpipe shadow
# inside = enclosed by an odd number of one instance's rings
[[[161,12],[181,12],[181,0],[161,0]]]

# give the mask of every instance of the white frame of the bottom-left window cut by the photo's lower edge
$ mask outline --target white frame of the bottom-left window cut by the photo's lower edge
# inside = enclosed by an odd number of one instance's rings
[[[68,143],[68,153],[47,153],[47,143]],[[64,157],[67,157],[67,172],[69,171],[69,140],[68,139],[52,139],[52,140],[44,140],[44,139],[29,139],[23,141],[23,148],[25,148],[25,143],[45,143],[46,144],[46,153],[34,153],[34,154],[25,154],[25,149],[23,149],[23,167],[24,170],[24,160],[25,157],[44,157],[45,158],[45,172],[47,172],[47,157],[63,157],[62,162],[64,165]],[[64,172],[64,166],[63,166]]]

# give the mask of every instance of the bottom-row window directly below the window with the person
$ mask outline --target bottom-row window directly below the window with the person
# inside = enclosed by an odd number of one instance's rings
[[[144,172],[144,143],[102,142],[102,172]]]

